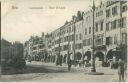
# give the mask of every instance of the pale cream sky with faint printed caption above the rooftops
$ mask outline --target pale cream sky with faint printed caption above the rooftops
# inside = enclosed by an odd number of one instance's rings
[[[77,11],[90,10],[92,0],[3,0],[1,5],[1,37],[24,43],[64,25]]]

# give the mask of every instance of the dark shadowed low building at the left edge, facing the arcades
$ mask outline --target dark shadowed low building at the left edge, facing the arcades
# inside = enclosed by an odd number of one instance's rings
[[[8,42],[1,40],[1,60],[8,61],[13,58],[23,58],[23,44],[20,42]]]

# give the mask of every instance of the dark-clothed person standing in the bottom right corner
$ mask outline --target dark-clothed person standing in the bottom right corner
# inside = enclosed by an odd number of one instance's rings
[[[124,81],[124,61],[122,59],[119,59],[118,61],[118,75],[119,75],[119,81]]]

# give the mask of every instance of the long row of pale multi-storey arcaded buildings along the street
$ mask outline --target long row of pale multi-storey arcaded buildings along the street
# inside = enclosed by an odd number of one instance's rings
[[[72,16],[72,20],[66,21],[60,28],[46,35],[43,33],[43,36],[35,41],[37,44],[33,39],[30,38],[25,43],[29,56],[36,56],[41,52],[51,56],[67,56],[73,53],[74,60],[90,61],[94,40],[94,54],[99,61],[107,62],[113,56],[126,58],[127,1],[108,0],[95,7],[94,12],[78,11],[76,16]],[[123,52],[120,50],[122,48]],[[34,54],[35,52],[38,54]]]

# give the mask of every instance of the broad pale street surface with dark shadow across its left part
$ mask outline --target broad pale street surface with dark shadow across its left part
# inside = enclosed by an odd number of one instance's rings
[[[88,75],[89,68],[75,68],[69,72],[67,66],[55,66],[53,63],[27,63],[24,74],[3,75],[0,81],[18,82],[117,82],[117,70],[98,67],[98,72],[104,75]]]

